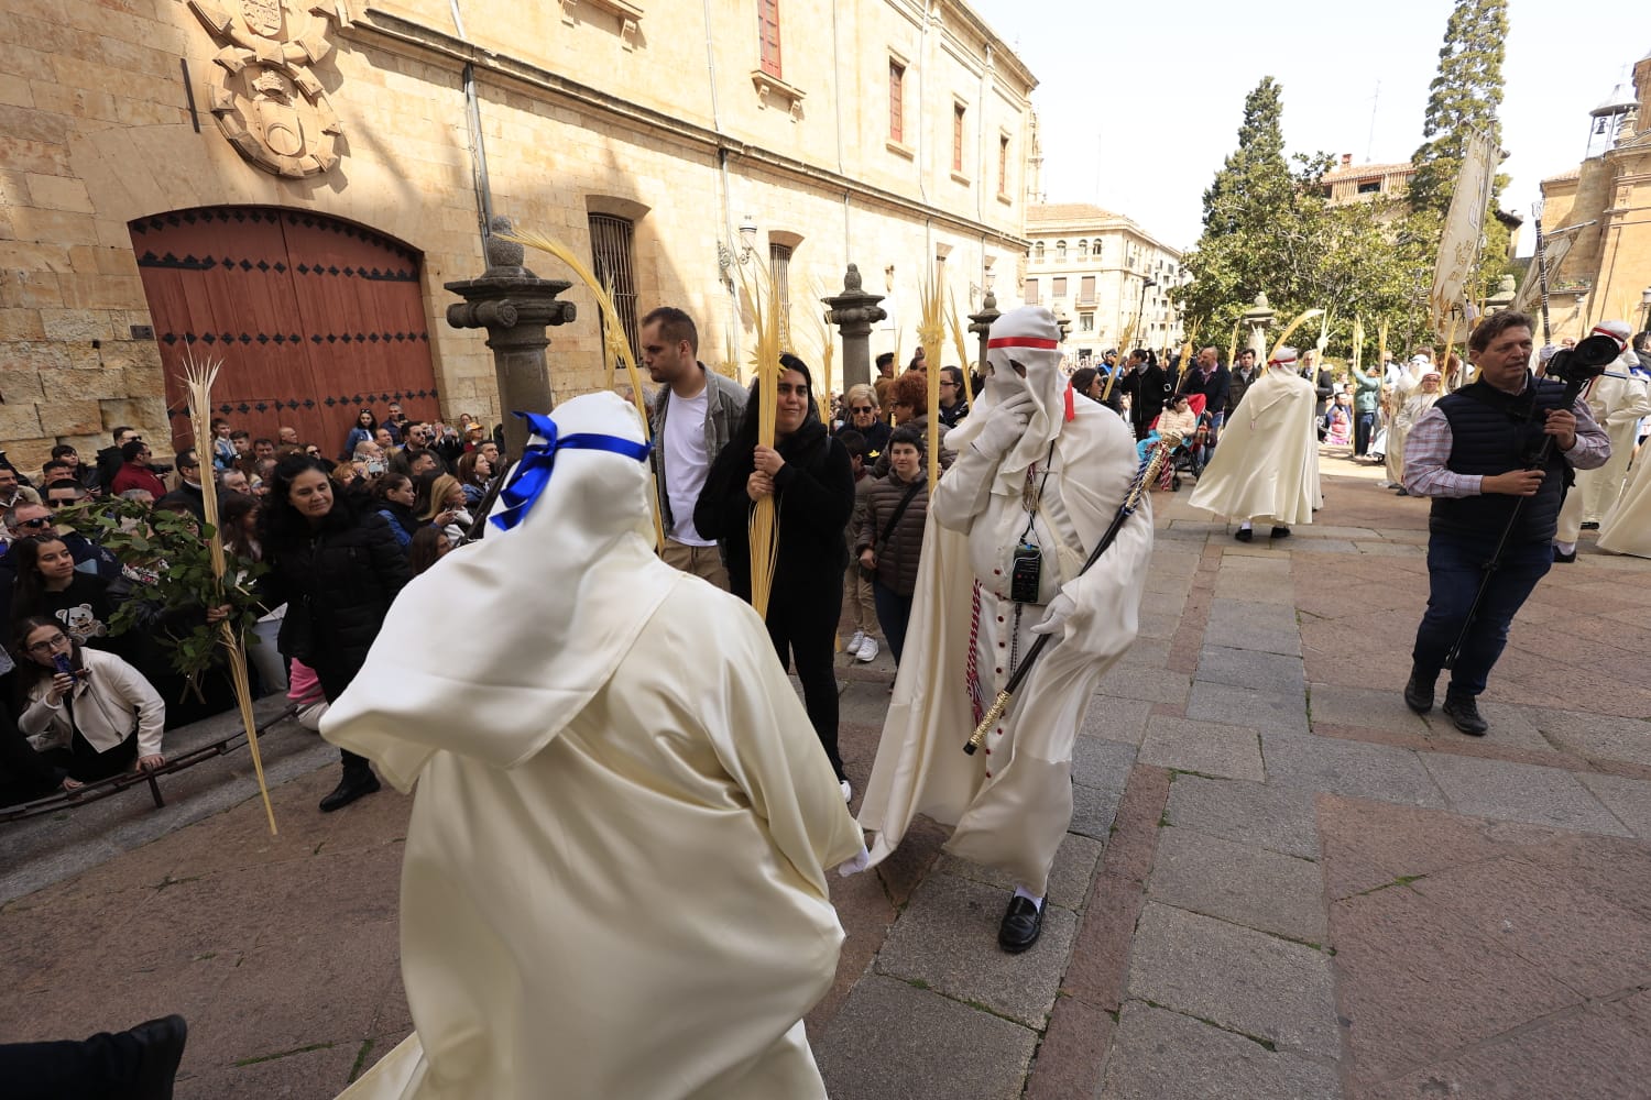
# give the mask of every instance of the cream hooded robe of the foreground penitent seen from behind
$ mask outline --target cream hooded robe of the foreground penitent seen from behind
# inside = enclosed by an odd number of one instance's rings
[[[641,440],[614,394],[561,434]],[[654,556],[647,467],[560,450],[520,526],[413,581],[324,734],[418,782],[401,872],[416,1032],[348,1100],[824,1097],[802,1014],[860,851],[741,600]],[[457,646],[408,646],[462,609]]]

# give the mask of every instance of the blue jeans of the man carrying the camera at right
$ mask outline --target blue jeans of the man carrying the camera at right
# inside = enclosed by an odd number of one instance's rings
[[[1417,648],[1412,651],[1412,660],[1423,675],[1445,666],[1445,656],[1461,633],[1499,534],[1496,531],[1489,539],[1433,534],[1428,539],[1428,610],[1417,627]],[[1456,656],[1450,678],[1451,694],[1478,696],[1484,691],[1491,666],[1507,645],[1507,627],[1514,622],[1514,613],[1552,567],[1554,544],[1549,541],[1507,546]]]

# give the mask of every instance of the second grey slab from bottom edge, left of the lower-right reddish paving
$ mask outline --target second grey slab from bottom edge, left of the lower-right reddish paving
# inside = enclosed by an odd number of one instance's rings
[[[1129,996],[1298,1054],[1336,1057],[1322,952],[1149,900],[1136,925]]]

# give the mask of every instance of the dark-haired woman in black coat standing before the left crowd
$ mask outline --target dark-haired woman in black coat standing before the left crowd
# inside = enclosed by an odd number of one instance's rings
[[[406,584],[406,554],[383,516],[357,515],[309,455],[287,455],[276,467],[259,541],[269,566],[259,581],[264,604],[287,605],[276,645],[315,670],[332,703],[362,670]],[[367,757],[340,754],[343,778],[320,800],[322,813],[378,790]]]

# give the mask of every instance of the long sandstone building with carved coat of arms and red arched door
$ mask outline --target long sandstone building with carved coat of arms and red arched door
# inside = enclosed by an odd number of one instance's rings
[[[0,0],[0,440],[26,472],[116,424],[182,439],[185,351],[225,360],[231,422],[329,454],[390,399],[497,421],[484,336],[444,323],[487,214],[593,261],[627,328],[687,308],[707,363],[746,358],[753,261],[812,360],[845,264],[913,297],[938,264],[963,305],[1027,249],[1035,81],[954,0]],[[608,384],[566,297],[558,397]]]

